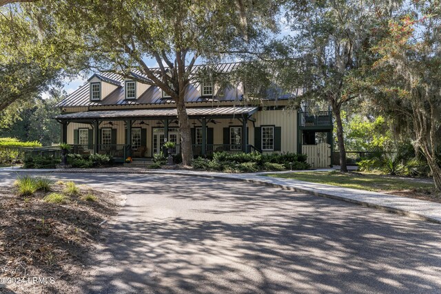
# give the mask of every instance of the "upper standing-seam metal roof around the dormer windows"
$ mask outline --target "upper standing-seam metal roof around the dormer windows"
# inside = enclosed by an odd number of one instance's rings
[[[240,65],[240,63],[219,63],[217,65],[194,65],[190,78],[194,77],[199,70],[206,68],[207,66],[213,66],[216,68],[216,72],[231,72],[235,67]],[[157,72],[160,76],[159,68],[152,68],[153,72]],[[143,81],[149,81],[150,79],[139,70],[131,70],[130,74],[135,78]],[[113,72],[101,72],[99,74],[94,74],[94,76],[101,79],[106,83],[111,83],[113,85],[124,85],[124,78],[119,74]],[[91,78],[93,78],[92,76]],[[198,90],[199,82],[195,81],[190,83],[185,94],[185,102],[203,102],[204,98],[201,97],[201,92]],[[99,105],[149,105],[149,104],[167,104],[174,103],[167,99],[163,99],[162,91],[159,87],[150,86],[147,90],[141,94],[136,100],[125,100],[124,87],[118,87],[114,92],[107,95],[101,101],[90,101],[90,85],[85,83],[79,89],[74,91],[68,97],[63,99],[63,101],[54,105],[54,107],[87,107],[87,106],[99,106]],[[236,87],[227,87],[224,90],[224,95],[222,97],[216,97],[218,101],[241,101],[243,98],[243,93],[240,92]]]

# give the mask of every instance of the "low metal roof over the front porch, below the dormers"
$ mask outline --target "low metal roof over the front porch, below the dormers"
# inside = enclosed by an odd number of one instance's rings
[[[187,107],[189,118],[237,118],[251,116],[258,111],[258,107]],[[101,110],[92,112],[74,112],[55,116],[57,120],[148,120],[176,118],[176,108],[157,109],[126,109],[126,110]]]

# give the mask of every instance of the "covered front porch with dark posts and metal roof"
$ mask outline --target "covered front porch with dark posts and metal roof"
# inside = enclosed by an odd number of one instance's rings
[[[217,151],[260,151],[249,144],[249,129],[258,107],[188,107],[194,156]],[[56,117],[62,126],[61,141],[76,154],[107,154],[114,158],[150,158],[165,151],[166,141],[176,143],[181,154],[181,136],[176,109],[130,109],[76,112]],[[128,127],[130,126],[130,127]]]

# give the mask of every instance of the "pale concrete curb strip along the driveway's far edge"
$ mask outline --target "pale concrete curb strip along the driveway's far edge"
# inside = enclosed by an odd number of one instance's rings
[[[229,174],[221,175],[221,174],[209,174],[205,172],[205,174],[196,174],[194,172],[191,173],[185,173],[185,171],[174,171],[174,170],[168,170],[168,171],[158,171],[158,170],[151,170],[151,171],[114,171],[114,170],[103,170],[103,171],[97,171],[97,170],[72,170],[72,169],[45,169],[45,170],[34,170],[34,169],[12,169],[8,171],[0,170],[1,172],[31,172],[31,173],[51,173],[51,174],[154,174],[154,175],[174,175],[174,176],[193,176],[198,178],[218,178],[222,180],[232,180],[232,181],[238,181],[238,182],[249,182],[257,185],[265,185],[267,187],[276,187],[281,188],[288,191],[296,191],[296,192],[302,192],[302,193],[309,193],[314,196],[323,197],[323,198],[329,198],[334,200],[340,200],[344,202],[349,202],[352,204],[358,204],[363,207],[370,207],[373,209],[378,209],[380,211],[387,211],[390,213],[396,213],[400,216],[407,216],[410,218],[418,219],[418,220],[425,220],[429,222],[435,222],[437,224],[441,224],[441,218],[435,218],[431,216],[426,216],[422,213],[415,213],[412,211],[407,211],[405,209],[397,209],[396,207],[389,207],[387,205],[382,204],[376,204],[372,202],[366,202],[362,200],[356,200],[352,198],[347,198],[345,196],[335,196],[331,195],[329,193],[322,193],[322,192],[316,192],[311,191],[311,189],[302,189],[299,187],[290,187],[288,185],[282,185],[274,182],[268,182],[267,180],[271,180],[271,178],[267,178],[266,180],[256,180],[252,178],[243,178],[243,177],[234,177]],[[259,175],[254,175],[259,176]],[[298,181],[303,182],[303,181]],[[305,184],[315,184],[311,182],[305,182]],[[424,201],[424,200],[421,200]]]

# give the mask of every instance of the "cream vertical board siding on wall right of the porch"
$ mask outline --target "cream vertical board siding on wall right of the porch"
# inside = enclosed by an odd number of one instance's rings
[[[297,112],[295,110],[261,110],[253,116],[256,127],[274,125],[281,129],[280,151],[264,151],[264,154],[274,152],[297,153]],[[249,132],[249,143],[254,145],[254,132]],[[256,146],[261,149],[262,146]]]

